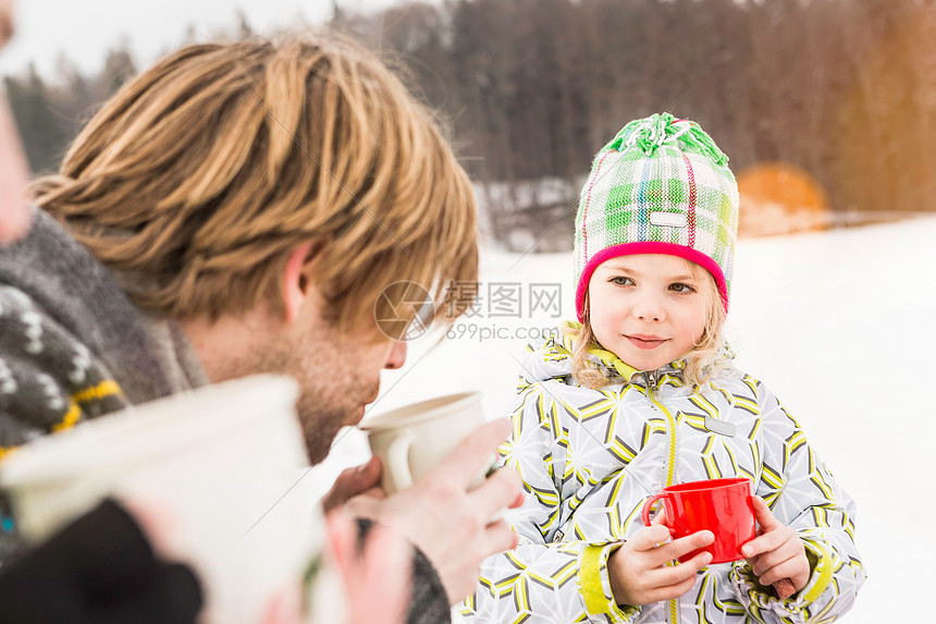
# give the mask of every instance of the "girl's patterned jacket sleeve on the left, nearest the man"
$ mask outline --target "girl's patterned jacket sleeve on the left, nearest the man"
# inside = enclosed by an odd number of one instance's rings
[[[519,397],[502,463],[520,473],[526,500],[508,514],[519,546],[481,564],[472,596],[456,610],[468,622],[631,622],[636,608],[612,597],[608,555],[618,543],[564,541],[565,443],[555,402],[540,384]]]

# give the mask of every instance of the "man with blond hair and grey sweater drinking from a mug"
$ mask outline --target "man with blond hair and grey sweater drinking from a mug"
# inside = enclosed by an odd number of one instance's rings
[[[381,291],[407,280],[441,301],[477,278],[464,170],[399,81],[341,39],[183,48],[108,101],[34,189],[32,228],[0,248],[0,461],[128,404],[280,372],[303,388],[319,462],[380,370],[404,363],[374,322]],[[515,545],[487,519],[516,500],[516,474],[467,491],[507,429],[482,427],[410,490],[348,505],[431,562],[417,558],[411,620],[447,620],[480,561]],[[345,473],[327,506],[379,475],[375,462]]]

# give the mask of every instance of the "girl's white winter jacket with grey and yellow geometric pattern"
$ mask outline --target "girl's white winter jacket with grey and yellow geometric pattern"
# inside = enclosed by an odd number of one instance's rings
[[[520,545],[482,564],[456,609],[468,622],[832,622],[849,610],[865,577],[854,503],[763,383],[730,369],[693,393],[678,363],[638,372],[594,350],[590,360],[616,383],[591,390],[570,377],[572,340],[549,339],[524,360],[501,449],[527,491],[508,516]],[[644,501],[736,476],[803,540],[808,585],[779,600],[739,561],[703,568],[678,600],[615,604],[607,559],[642,526]]]

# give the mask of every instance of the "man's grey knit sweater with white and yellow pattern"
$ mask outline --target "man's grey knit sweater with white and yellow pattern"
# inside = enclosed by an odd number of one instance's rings
[[[38,436],[206,382],[182,329],[141,314],[45,212],[0,246],[0,461]],[[0,514],[3,561],[19,540]]]

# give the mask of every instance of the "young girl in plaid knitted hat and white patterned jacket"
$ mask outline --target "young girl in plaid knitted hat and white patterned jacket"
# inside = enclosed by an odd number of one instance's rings
[[[828,622],[853,603],[854,505],[722,337],[738,220],[727,162],[666,113],[595,157],[576,218],[581,322],[524,363],[501,452],[528,492],[512,514],[520,546],[484,562],[469,621]],[[676,565],[713,536],[644,527],[644,501],[736,476],[756,493],[747,560]]]

